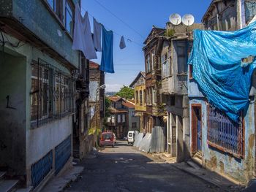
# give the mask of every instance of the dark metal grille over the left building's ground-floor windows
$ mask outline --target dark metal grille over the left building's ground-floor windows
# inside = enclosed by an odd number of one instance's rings
[[[41,126],[75,112],[72,77],[42,59],[31,64],[31,125]]]

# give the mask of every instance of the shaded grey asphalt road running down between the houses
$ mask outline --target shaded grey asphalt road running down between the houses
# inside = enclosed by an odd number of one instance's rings
[[[81,177],[65,191],[221,191],[159,158],[118,141],[81,161]]]

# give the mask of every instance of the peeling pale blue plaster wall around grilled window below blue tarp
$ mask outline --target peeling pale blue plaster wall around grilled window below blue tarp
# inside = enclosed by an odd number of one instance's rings
[[[254,104],[249,105],[249,109],[244,118],[245,120],[245,152],[244,158],[235,158],[228,153],[210,147],[207,144],[207,103],[202,99],[190,98],[189,104],[202,105],[202,160],[206,169],[211,169],[219,174],[225,174],[228,177],[246,183],[253,177],[255,170],[255,115]],[[190,107],[191,108],[191,107]],[[190,117],[192,117],[190,110]],[[190,131],[192,126],[190,123]],[[192,132],[190,132],[192,135]],[[192,143],[192,137],[190,138]]]

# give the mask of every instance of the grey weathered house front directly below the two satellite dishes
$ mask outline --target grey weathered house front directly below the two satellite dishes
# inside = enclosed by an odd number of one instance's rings
[[[159,39],[157,51],[161,55],[162,101],[167,111],[167,152],[180,162],[190,157],[187,60],[192,47],[192,30],[203,25],[195,23],[189,28],[174,28],[167,23],[166,28],[173,34]]]

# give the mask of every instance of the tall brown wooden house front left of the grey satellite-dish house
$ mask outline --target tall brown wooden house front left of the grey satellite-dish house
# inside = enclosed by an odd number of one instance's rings
[[[161,66],[157,53],[159,37],[164,33],[165,29],[153,26],[144,42],[145,47],[143,47],[146,69],[146,112],[143,129],[148,133],[151,133],[154,126],[165,126],[163,117],[166,112],[160,96]]]

